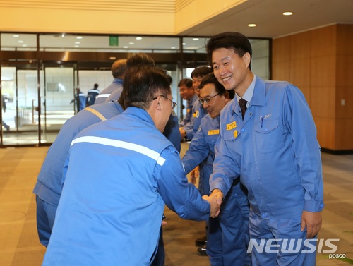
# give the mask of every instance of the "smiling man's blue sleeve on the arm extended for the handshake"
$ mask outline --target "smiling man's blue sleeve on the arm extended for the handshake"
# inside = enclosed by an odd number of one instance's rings
[[[232,187],[234,179],[239,178],[240,162],[241,155],[232,154],[229,151],[227,141],[222,138],[221,130],[220,138],[215,144],[215,161],[213,162],[213,174],[210,176],[210,192],[218,188],[223,195],[226,195]]]

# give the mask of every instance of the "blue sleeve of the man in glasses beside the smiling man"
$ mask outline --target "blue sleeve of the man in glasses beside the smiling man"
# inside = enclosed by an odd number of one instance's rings
[[[184,164],[185,173],[188,174],[208,156],[210,147],[205,141],[205,135],[200,128],[191,140],[189,150],[186,151],[181,162]]]

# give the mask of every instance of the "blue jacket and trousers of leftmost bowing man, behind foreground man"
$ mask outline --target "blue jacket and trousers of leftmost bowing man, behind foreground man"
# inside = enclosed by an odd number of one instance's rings
[[[64,164],[73,137],[84,128],[121,114],[122,111],[119,102],[116,101],[87,107],[64,123],[50,146],[33,190],[37,200],[37,231],[42,245],[48,245],[52,233],[55,212],[61,195]]]

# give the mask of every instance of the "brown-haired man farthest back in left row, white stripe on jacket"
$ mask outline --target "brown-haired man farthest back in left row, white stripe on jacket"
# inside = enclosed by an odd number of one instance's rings
[[[106,102],[107,98],[112,92],[123,90],[123,80],[126,71],[126,59],[118,59],[112,64],[112,75],[114,77],[113,83],[100,92],[95,98],[95,104],[102,104]],[[108,101],[109,102],[109,101]]]

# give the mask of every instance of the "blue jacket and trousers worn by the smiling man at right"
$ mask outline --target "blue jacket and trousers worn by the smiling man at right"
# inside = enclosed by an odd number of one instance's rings
[[[254,77],[251,86],[244,121],[235,98],[221,111],[210,189],[226,194],[240,175],[251,205],[250,238],[257,243],[261,238],[304,242],[302,212],[323,210],[321,153],[311,111],[294,85]],[[298,253],[253,249],[253,264],[274,265],[277,258],[280,265],[305,265],[306,256],[315,261],[316,253],[301,253],[303,249],[303,245]]]

